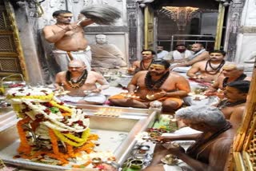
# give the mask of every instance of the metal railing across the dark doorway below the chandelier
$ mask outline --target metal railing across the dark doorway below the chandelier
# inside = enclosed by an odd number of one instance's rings
[[[194,37],[193,39],[181,39],[181,38],[187,38],[187,37]],[[178,39],[176,39],[178,38]],[[200,39],[195,39],[195,38],[200,38]],[[213,38],[213,40],[204,40],[204,38]],[[170,51],[174,50],[174,42],[180,42],[184,45],[186,45],[186,42],[193,42],[197,43],[200,42],[204,44],[206,50],[208,47],[208,44],[210,42],[215,42],[215,36],[214,35],[196,35],[196,34],[173,34],[171,35],[170,40],[158,40],[158,44],[161,44],[161,42],[170,42]]]

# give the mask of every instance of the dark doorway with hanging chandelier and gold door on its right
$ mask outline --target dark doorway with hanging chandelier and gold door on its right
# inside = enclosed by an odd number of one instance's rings
[[[223,49],[226,16],[230,1],[155,1],[156,25],[154,38],[165,50],[174,50],[177,44],[188,48],[201,42],[206,50]]]

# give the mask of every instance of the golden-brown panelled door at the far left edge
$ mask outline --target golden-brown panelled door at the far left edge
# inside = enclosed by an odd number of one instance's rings
[[[18,26],[10,2],[0,2],[0,78],[27,79]]]

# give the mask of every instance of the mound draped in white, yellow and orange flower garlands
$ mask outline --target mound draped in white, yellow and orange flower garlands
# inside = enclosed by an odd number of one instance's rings
[[[13,89],[7,98],[21,117],[17,123],[20,145],[16,158],[39,162],[55,159],[58,162],[53,160],[52,164],[66,165],[71,158],[83,155],[83,151],[90,153],[94,150],[93,141],[98,140],[98,135],[90,134],[86,113],[59,102],[51,90]],[[91,163],[90,160],[83,162],[74,167],[86,167]]]

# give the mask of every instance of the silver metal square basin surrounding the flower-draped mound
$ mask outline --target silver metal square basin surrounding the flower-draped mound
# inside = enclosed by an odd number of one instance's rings
[[[94,112],[105,106],[85,105],[86,113],[90,115],[90,129],[93,133],[98,133],[100,137],[99,148],[110,150],[117,158],[118,164],[126,160],[130,151],[136,143],[135,136],[154,124],[158,111],[150,109],[127,109],[117,107],[107,107],[111,109],[123,109],[120,117],[95,116]],[[105,136],[104,136],[105,135]],[[118,135],[118,136],[117,136]],[[0,139],[4,139],[2,135]],[[102,144],[102,146],[101,146]],[[5,163],[17,165],[26,169],[34,170],[68,170],[70,167],[58,165],[46,165],[29,161],[22,158],[13,157],[17,155],[19,140],[0,151],[0,158]],[[90,168],[82,170],[94,170]]]

